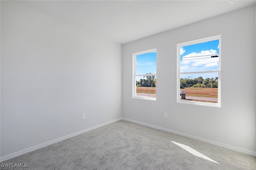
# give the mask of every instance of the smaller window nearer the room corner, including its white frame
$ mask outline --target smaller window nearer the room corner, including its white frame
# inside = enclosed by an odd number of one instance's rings
[[[156,100],[156,49],[133,54],[132,97]]]

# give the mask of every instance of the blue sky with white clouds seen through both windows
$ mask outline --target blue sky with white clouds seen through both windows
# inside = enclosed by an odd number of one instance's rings
[[[219,40],[208,41],[180,48],[180,72],[196,72],[219,69],[219,58],[211,56],[219,54]],[[136,56],[136,74],[156,74],[156,52]],[[180,78],[218,77],[218,73],[180,74]],[[139,80],[142,77],[137,77]]]

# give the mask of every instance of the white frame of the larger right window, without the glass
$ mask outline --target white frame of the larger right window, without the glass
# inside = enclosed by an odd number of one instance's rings
[[[214,41],[217,39],[219,40],[219,56],[218,56],[219,69],[218,70],[208,70],[208,71],[198,71],[198,72],[180,72],[180,47],[204,43],[208,41]],[[196,74],[196,73],[210,73],[210,72],[218,72],[218,103],[180,100],[180,74]],[[177,103],[220,107],[221,106],[220,99],[221,99],[221,35],[177,44]]]

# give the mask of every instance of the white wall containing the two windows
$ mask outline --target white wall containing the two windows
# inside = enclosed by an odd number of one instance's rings
[[[214,35],[222,35],[221,107],[177,104],[177,44]],[[156,101],[133,99],[132,53],[154,48]],[[255,6],[124,44],[122,66],[125,119],[256,154]]]

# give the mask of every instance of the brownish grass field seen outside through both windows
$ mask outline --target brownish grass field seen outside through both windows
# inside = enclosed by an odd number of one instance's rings
[[[151,92],[150,92],[151,89]],[[173,89],[176,90],[176,89]],[[186,92],[186,96],[197,96],[207,98],[218,98],[218,88],[182,88],[180,89]],[[154,87],[136,87],[137,93],[154,94]],[[156,94],[156,91],[155,91]]]

